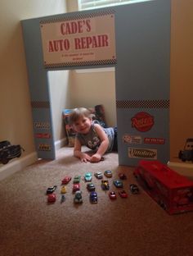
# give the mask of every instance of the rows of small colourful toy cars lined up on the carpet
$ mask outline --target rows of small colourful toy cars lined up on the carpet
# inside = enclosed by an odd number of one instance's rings
[[[112,171],[105,171],[104,172],[105,177],[111,178],[112,177]],[[94,173],[94,176],[96,176],[96,179],[101,180],[101,189],[102,190],[110,190],[110,184],[108,179],[104,180],[103,179],[103,174],[101,171],[98,171]],[[114,180],[113,184],[116,188],[123,188],[123,181],[121,180],[126,180],[127,176],[125,176],[123,173],[119,173],[119,180]],[[65,193],[66,193],[66,188],[65,185],[67,185],[71,181],[70,176],[65,176],[65,178],[61,181],[61,203],[65,201]],[[74,176],[73,180],[73,188],[72,192],[74,193],[74,203],[83,203],[83,196],[82,192],[80,190],[80,181],[81,181],[81,176],[76,175]],[[91,203],[97,203],[98,198],[97,198],[97,193],[96,193],[96,187],[95,185],[91,182],[92,181],[92,173],[91,172],[86,172],[84,175],[84,181],[87,182],[87,190],[90,192],[89,194],[89,199]],[[47,188],[47,202],[48,203],[53,203],[56,201],[56,194],[54,193],[56,190],[56,185],[53,185],[52,187]],[[131,184],[130,185],[130,190],[132,194],[138,194],[139,189],[137,185]],[[126,193],[125,190],[119,190],[119,196],[121,198],[127,198],[128,194]],[[109,197],[110,199],[116,199],[116,192],[115,191],[110,191],[109,192]]]

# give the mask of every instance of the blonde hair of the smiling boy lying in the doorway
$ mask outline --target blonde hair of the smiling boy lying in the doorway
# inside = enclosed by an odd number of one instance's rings
[[[74,122],[78,121],[80,117],[92,118],[93,114],[86,107],[76,107],[76,108],[74,108],[74,110],[70,113],[70,117],[69,117],[70,126],[72,126],[74,124]]]

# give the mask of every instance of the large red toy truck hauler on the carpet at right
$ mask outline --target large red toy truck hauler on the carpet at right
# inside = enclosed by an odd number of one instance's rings
[[[133,172],[152,199],[169,214],[193,210],[193,181],[159,161],[141,160]]]

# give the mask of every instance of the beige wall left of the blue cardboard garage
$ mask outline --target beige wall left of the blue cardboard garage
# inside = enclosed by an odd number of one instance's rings
[[[22,158],[34,152],[34,135],[20,21],[65,11],[65,0],[1,1],[0,141],[20,144]]]

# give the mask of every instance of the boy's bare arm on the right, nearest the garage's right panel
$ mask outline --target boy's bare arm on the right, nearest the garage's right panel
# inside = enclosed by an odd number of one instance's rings
[[[94,125],[96,134],[99,136],[101,140],[101,145],[99,146],[98,150],[96,151],[95,154],[93,154],[91,158],[91,162],[99,162],[101,160],[101,157],[104,155],[106,150],[108,149],[109,146],[109,139],[107,135],[105,134],[105,131],[100,125],[95,124]]]

